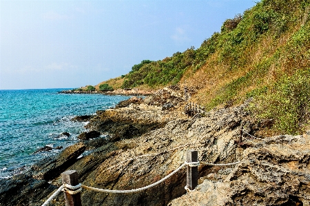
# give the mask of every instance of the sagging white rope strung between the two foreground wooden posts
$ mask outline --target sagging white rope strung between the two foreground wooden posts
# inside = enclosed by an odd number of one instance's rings
[[[82,185],[82,187],[84,189],[90,189],[90,190],[94,190],[96,192],[105,192],[105,193],[113,193],[113,194],[123,194],[123,193],[132,193],[132,192],[140,192],[143,191],[145,189],[149,189],[151,187],[154,187],[155,185],[158,185],[160,183],[163,183],[163,181],[167,180],[167,178],[171,177],[172,175],[176,174],[176,172],[178,172],[180,169],[182,169],[182,167],[184,167],[185,165],[187,165],[186,163],[183,163],[182,165],[180,165],[180,167],[178,167],[176,170],[174,170],[174,172],[168,174],[167,176],[165,176],[165,178],[162,178],[160,181],[157,181],[156,183],[153,183],[151,185],[145,186],[145,187],[141,187],[138,189],[129,189],[129,190],[111,190],[111,189],[99,189],[99,188],[95,188],[95,187],[89,187],[86,185]]]

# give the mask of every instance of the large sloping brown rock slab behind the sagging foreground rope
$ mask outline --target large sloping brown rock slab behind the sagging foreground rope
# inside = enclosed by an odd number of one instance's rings
[[[214,162],[236,161],[242,149],[235,144],[239,128],[249,125],[243,121],[245,105],[210,112],[207,117],[186,119],[179,116],[165,127],[151,130],[136,138],[107,143],[68,169],[76,169],[83,185],[105,189],[135,189],[150,185],[171,173],[185,161],[186,152],[196,149],[201,160]],[[158,112],[161,112],[159,110]],[[177,116],[177,115],[175,115]],[[250,127],[248,127],[250,130]],[[200,166],[200,176],[214,172]],[[218,169],[217,169],[218,170]],[[104,194],[83,190],[83,205],[167,205],[170,200],[185,194],[185,169],[165,183],[134,194]],[[59,178],[53,182],[61,185]],[[54,205],[61,205],[63,197]]]

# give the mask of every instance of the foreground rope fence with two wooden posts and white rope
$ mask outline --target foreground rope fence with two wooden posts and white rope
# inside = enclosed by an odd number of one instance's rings
[[[92,190],[95,192],[104,192],[109,194],[130,194],[134,192],[141,192],[145,189],[149,189],[154,187],[160,183],[163,183],[168,178],[176,174],[180,169],[187,166],[187,185],[185,189],[187,192],[191,192],[195,187],[198,185],[198,166],[199,165],[209,165],[209,166],[228,166],[228,165],[237,165],[240,161],[235,163],[206,163],[203,161],[198,161],[198,151],[197,150],[189,150],[187,151],[187,158],[185,163],[180,165],[174,172],[168,174],[161,180],[157,181],[156,183],[152,183],[151,185],[147,185],[145,187],[137,188],[137,189],[127,189],[127,190],[117,190],[117,189],[101,189],[96,187],[90,187],[87,185],[82,185],[79,183],[78,174],[75,170],[68,170],[61,174],[61,178],[63,181],[63,185],[59,187],[59,189],[48,198],[48,200],[43,203],[42,206],[47,206],[55,198],[59,192],[63,191],[65,194],[65,205],[66,206],[79,206],[81,205],[81,192],[82,189]],[[75,183],[75,184],[74,184]]]

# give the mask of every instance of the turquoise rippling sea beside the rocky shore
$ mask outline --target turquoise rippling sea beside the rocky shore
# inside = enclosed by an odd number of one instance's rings
[[[78,142],[87,123],[71,121],[74,116],[95,114],[129,98],[59,93],[62,90],[69,89],[0,90],[0,178],[10,178],[58,154],[61,150],[56,147]],[[44,146],[53,150],[34,153]]]

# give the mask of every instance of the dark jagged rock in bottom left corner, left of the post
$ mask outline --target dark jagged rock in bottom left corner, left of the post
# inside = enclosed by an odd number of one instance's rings
[[[56,188],[47,181],[36,180],[27,174],[0,179],[0,205],[42,205],[41,200]]]

